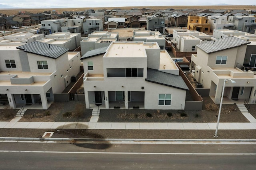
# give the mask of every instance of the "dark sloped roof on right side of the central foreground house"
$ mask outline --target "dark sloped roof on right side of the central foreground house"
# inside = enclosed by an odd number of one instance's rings
[[[182,90],[189,90],[186,83],[183,81],[182,77],[179,75],[173,75],[170,73],[164,73],[155,69],[147,69],[146,81],[157,83],[160,85],[166,85],[169,87],[174,87]]]

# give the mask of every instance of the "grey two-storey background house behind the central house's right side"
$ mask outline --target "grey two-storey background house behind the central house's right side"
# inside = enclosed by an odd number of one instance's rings
[[[165,27],[165,18],[159,15],[153,15],[147,18],[147,30],[159,31],[161,34],[164,34]]]

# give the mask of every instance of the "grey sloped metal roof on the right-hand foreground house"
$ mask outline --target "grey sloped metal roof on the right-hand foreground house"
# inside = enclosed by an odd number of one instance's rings
[[[202,49],[207,54],[210,54],[218,51],[223,51],[226,49],[239,47],[241,45],[246,45],[248,43],[251,42],[233,36],[229,36],[227,38],[221,38],[219,40],[198,44],[197,47]]]

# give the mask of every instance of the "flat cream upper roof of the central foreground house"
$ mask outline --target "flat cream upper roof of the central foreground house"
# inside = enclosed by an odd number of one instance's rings
[[[157,43],[112,42],[104,57],[147,57],[146,48],[159,48]]]

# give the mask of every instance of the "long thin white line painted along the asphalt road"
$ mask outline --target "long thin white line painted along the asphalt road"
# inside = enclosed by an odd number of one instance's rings
[[[31,151],[31,150],[0,150],[0,152],[56,153],[56,154],[256,155],[256,153],[64,152],[64,151]]]

